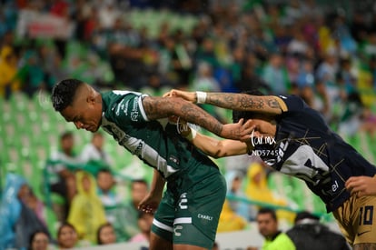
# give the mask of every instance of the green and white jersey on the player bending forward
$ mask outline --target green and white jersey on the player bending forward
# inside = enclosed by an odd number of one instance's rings
[[[113,135],[119,145],[158,170],[167,181],[172,176],[187,172],[195,179],[196,165],[217,167],[180,136],[176,126],[167,123],[167,119],[150,121],[143,110],[144,96],[130,91],[104,93],[104,131]]]

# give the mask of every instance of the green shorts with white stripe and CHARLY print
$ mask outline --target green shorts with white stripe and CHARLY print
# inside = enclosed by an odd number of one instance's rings
[[[173,244],[212,249],[226,195],[223,175],[215,171],[189,189],[167,189],[154,215],[154,234]]]

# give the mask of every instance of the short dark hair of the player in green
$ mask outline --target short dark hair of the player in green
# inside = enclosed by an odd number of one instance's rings
[[[72,105],[77,89],[84,82],[77,79],[64,79],[54,85],[51,101],[55,111],[63,111],[68,105]]]

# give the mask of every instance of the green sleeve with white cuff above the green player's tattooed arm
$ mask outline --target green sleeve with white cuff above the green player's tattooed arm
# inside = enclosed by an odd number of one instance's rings
[[[114,105],[114,118],[122,123],[143,123],[149,121],[143,109],[143,97],[147,95],[125,94],[123,99]]]

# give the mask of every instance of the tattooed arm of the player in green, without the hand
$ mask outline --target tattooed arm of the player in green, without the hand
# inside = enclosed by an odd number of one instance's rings
[[[215,135],[221,135],[223,130],[223,124],[212,115],[182,98],[144,97],[143,109],[150,120],[176,115],[189,123],[202,126]]]

